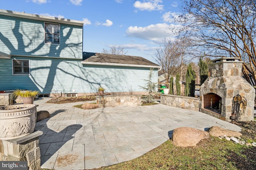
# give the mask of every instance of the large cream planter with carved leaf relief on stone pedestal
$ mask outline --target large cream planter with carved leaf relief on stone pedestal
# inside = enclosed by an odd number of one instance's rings
[[[36,125],[36,105],[17,104],[0,107],[0,140],[26,136]]]

